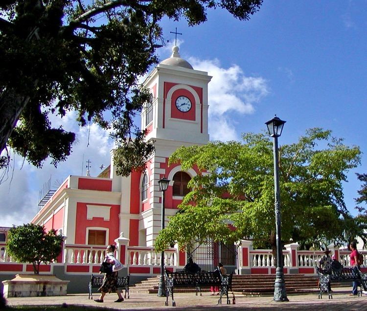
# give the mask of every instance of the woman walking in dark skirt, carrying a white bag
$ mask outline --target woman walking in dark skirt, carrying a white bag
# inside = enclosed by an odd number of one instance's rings
[[[121,296],[121,291],[117,290],[117,271],[121,270],[123,265],[115,258],[115,248],[116,247],[113,244],[107,246],[105,262],[112,264],[112,273],[105,273],[102,286],[98,289],[101,292],[101,295],[98,299],[94,299],[95,302],[103,302],[103,298],[106,293],[111,292],[116,292],[118,295],[118,299],[115,300],[115,302],[124,301],[124,298]]]

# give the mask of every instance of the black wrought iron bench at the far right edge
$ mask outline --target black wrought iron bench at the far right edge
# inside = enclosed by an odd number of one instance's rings
[[[358,291],[358,296],[362,296],[362,288],[366,290],[367,284],[367,273],[361,272],[359,269],[353,268],[342,268],[340,270],[333,269],[320,269],[316,267],[317,274],[319,276],[319,299],[322,299],[322,293],[327,292],[329,299],[333,299],[331,294],[331,282],[359,282],[360,290]]]

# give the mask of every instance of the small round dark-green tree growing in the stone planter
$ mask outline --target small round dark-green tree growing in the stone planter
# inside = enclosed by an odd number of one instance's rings
[[[50,263],[59,256],[62,242],[62,235],[56,235],[54,229],[46,233],[44,226],[27,223],[10,228],[6,248],[13,259],[32,263],[34,273],[39,274],[42,262]]]

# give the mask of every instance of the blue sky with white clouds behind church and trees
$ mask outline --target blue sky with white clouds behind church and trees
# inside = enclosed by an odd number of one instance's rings
[[[286,120],[279,144],[293,143],[306,129],[322,127],[361,147],[361,166],[348,173],[345,202],[355,214],[354,200],[361,184],[355,172],[367,172],[367,0],[265,0],[250,21],[237,21],[217,9],[208,21],[188,27],[184,21],[163,20],[170,56],[175,31],[181,56],[195,69],[213,76],[209,84],[211,139],[240,139],[241,133],[259,133],[274,114]],[[51,176],[56,187],[68,175],[91,175],[109,165],[113,143],[107,133],[92,126],[78,129],[69,115],[63,124],[77,133],[69,159],[57,169],[45,163],[36,169],[19,156],[14,170],[0,185],[0,226],[29,222],[37,212],[38,191]],[[56,123],[57,120],[54,120]],[[84,163],[83,163],[84,159]],[[22,167],[22,169],[21,169]],[[10,182],[11,181],[11,182]]]

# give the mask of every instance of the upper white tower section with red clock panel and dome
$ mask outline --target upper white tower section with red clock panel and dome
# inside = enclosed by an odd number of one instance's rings
[[[206,144],[209,141],[207,72],[195,70],[180,57],[179,47],[162,61],[144,81],[151,90],[153,104],[141,113],[141,128],[147,139],[166,139],[181,145]]]

